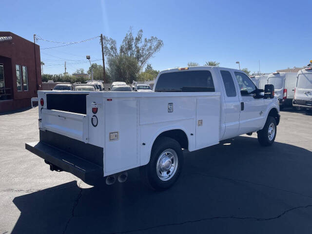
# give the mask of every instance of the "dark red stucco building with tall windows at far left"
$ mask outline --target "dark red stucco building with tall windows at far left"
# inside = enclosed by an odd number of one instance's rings
[[[30,107],[40,89],[39,45],[0,32],[0,112]]]

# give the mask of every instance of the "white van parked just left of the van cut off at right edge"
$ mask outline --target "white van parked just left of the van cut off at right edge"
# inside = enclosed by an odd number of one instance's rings
[[[275,72],[268,76],[268,84],[274,85],[274,96],[279,100],[280,109],[292,106],[296,82],[297,73],[295,72]]]

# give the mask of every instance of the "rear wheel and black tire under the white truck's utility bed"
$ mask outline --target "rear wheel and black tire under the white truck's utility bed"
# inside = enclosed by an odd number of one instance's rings
[[[141,177],[153,190],[166,190],[178,179],[183,161],[180,144],[170,137],[160,137],[152,147],[150,162],[140,167]]]

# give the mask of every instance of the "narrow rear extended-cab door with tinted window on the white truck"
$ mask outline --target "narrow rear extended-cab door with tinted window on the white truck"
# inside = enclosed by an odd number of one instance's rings
[[[223,95],[220,99],[224,98],[223,105],[223,126],[225,128],[223,137],[221,139],[228,139],[231,137],[236,137],[239,130],[239,114],[240,114],[240,100],[238,93],[236,91],[233,76],[231,74],[231,69],[218,68],[219,76],[222,80]]]

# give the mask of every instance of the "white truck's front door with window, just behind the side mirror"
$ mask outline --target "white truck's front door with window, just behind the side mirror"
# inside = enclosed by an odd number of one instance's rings
[[[254,132],[262,128],[265,117],[264,99],[253,92],[256,90],[254,82],[242,72],[234,72],[240,89],[240,117],[238,135]]]

